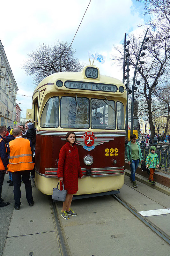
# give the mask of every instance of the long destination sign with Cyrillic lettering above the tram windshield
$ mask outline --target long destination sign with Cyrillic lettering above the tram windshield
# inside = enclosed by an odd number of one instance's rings
[[[92,90],[92,91],[103,91],[103,92],[117,92],[116,85],[109,84],[98,84],[98,83],[86,83],[77,81],[66,81],[64,83],[66,88],[81,89],[81,90]]]

